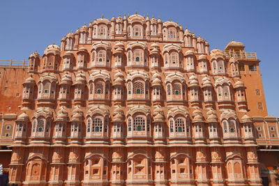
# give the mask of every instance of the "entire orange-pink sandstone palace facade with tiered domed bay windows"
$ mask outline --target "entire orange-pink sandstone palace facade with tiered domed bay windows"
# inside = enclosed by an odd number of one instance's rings
[[[170,20],[100,18],[0,68],[0,163],[18,185],[276,185],[259,60]]]

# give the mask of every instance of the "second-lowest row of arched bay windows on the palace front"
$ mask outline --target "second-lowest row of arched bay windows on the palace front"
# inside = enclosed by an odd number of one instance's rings
[[[177,138],[183,137],[190,139],[216,139],[226,138],[241,138],[241,128],[244,138],[255,138],[255,129],[252,123],[244,123],[239,125],[235,118],[223,119],[221,124],[209,123],[205,124],[203,121],[193,122],[190,118],[184,116],[175,116],[165,121],[156,121],[151,124],[151,116],[143,114],[136,114],[135,116],[128,116],[127,123],[124,121],[114,122],[110,121],[109,116],[97,114],[86,118],[85,125],[82,121],[71,122],[68,121],[52,121],[51,118],[44,118],[39,116],[35,118],[31,125],[31,137],[50,137],[65,138],[67,134],[70,137],[80,138],[83,135],[90,137],[154,137]],[[52,124],[53,123],[53,124]],[[52,127],[54,125],[54,127]],[[84,130],[82,130],[84,125]],[[27,123],[17,122],[15,137],[27,137]],[[53,131],[51,131],[53,130]],[[68,132],[67,132],[68,131]],[[84,133],[82,132],[84,131]]]

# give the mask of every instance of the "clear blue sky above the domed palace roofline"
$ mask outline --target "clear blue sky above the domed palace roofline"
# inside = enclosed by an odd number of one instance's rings
[[[224,49],[230,40],[241,41],[247,52],[262,61],[269,115],[279,116],[279,1],[0,1],[0,59],[28,59],[38,50],[84,23],[104,15],[171,18],[209,41],[211,49]]]

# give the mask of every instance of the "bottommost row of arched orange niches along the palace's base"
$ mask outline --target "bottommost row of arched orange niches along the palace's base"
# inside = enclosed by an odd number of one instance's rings
[[[156,152],[160,154],[162,152]],[[174,155],[173,155],[174,154]],[[13,183],[24,179],[26,183],[31,181],[61,181],[64,180],[63,170],[66,170],[66,182],[82,182],[90,184],[96,181],[126,180],[133,183],[133,180],[153,181],[153,180],[218,180],[223,183],[225,179],[230,183],[238,181],[245,182],[249,179],[252,182],[259,180],[259,170],[256,164],[246,164],[246,160],[238,153],[229,153],[225,162],[195,163],[195,158],[189,153],[180,150],[171,153],[168,161],[154,161],[152,155],[146,150],[134,150],[127,155],[126,163],[114,162],[107,158],[102,150],[95,150],[86,153],[84,160],[80,163],[52,163],[49,164],[43,155],[32,155],[26,162],[25,176],[20,173],[20,166],[12,165],[10,169],[10,181]],[[114,158],[114,157],[113,157]],[[64,166],[67,166],[65,169]],[[50,169],[50,176],[47,176],[47,169]],[[247,169],[247,171],[246,171]],[[83,176],[80,176],[80,172]],[[102,183],[101,183],[102,184]]]

